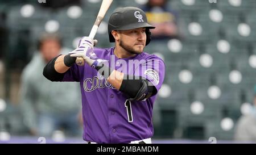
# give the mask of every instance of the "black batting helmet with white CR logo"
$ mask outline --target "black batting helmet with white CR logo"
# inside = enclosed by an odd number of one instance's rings
[[[131,30],[134,28],[146,27],[146,45],[150,43],[151,32],[149,29],[155,28],[147,23],[144,11],[137,7],[121,7],[116,9],[109,18],[108,30],[109,41],[115,42],[112,35],[113,30]]]

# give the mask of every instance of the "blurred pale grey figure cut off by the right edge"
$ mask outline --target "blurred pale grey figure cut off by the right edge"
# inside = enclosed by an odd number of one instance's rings
[[[256,142],[256,86],[254,90],[254,104],[249,114],[242,115],[236,124],[234,139],[236,141]]]

